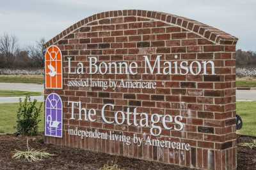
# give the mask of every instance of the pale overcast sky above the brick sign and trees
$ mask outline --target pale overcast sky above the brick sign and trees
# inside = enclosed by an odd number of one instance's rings
[[[256,51],[255,0],[0,0],[0,35],[15,34],[20,46],[46,40],[95,13],[154,10],[188,17],[239,38],[237,48]]]

